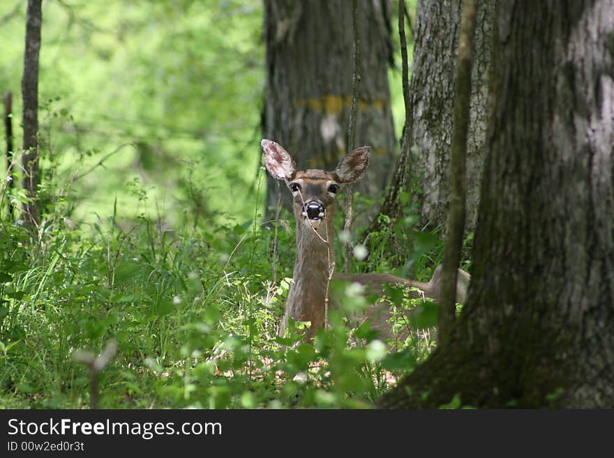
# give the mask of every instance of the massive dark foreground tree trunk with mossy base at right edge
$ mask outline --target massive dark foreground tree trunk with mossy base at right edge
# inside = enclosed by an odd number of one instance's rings
[[[613,408],[614,3],[497,8],[469,300],[380,406]]]

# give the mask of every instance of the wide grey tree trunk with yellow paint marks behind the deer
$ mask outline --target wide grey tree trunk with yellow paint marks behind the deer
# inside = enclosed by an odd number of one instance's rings
[[[265,0],[267,92],[264,137],[283,144],[298,169],[332,170],[347,153],[352,104],[352,2]],[[359,0],[361,81],[356,144],[373,158],[356,190],[377,198],[389,180],[394,128],[387,68],[391,61],[387,2]],[[267,208],[278,204],[269,177]],[[288,193],[281,190],[284,201]],[[289,201],[286,203],[289,206]]]

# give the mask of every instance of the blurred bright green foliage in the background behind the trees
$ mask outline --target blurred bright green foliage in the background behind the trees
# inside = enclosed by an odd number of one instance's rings
[[[26,3],[0,2],[16,148]],[[43,1],[43,182],[70,185],[66,217],[93,222],[116,199],[122,217],[165,224],[260,213],[262,10],[256,0]],[[399,68],[390,78],[400,135]]]

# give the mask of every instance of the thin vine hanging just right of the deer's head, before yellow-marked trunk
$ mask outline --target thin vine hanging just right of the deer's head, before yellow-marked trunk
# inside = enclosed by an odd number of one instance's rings
[[[358,0],[352,0],[352,30],[354,31],[354,75],[352,76],[352,107],[350,108],[350,125],[347,128],[347,152],[356,148],[356,119],[358,115],[358,97],[360,84],[360,34],[358,29]],[[352,185],[346,188],[347,202],[345,206],[345,223],[343,231],[347,234],[345,242],[345,265],[343,270],[348,272],[352,268],[352,239],[350,230],[352,229],[352,206],[354,205],[354,194]]]

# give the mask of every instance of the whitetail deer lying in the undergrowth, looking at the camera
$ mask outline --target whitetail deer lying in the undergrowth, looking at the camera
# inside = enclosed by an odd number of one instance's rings
[[[287,327],[288,319],[310,321],[308,335],[313,336],[318,327],[327,321],[327,307],[338,307],[338,300],[328,300],[331,279],[357,282],[368,291],[384,294],[385,284],[402,284],[416,287],[428,298],[438,300],[440,294],[441,266],[437,266],[428,283],[405,280],[384,273],[334,273],[333,217],[334,199],[343,185],[359,180],[368,165],[370,147],[357,148],[346,155],[335,171],[320,169],[297,170],[294,160],[285,149],[271,140],[262,140],[264,164],[269,173],[283,180],[292,192],[294,218],[297,222],[297,254],[294,263],[294,282],[288,291],[280,335]],[[470,275],[458,270],[457,302],[464,303]],[[418,297],[417,291],[411,292]],[[353,316],[354,323],[371,320],[371,326],[380,337],[389,339],[389,303],[367,307],[361,316]]]

